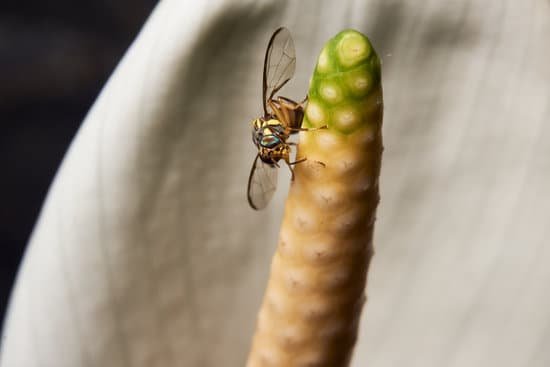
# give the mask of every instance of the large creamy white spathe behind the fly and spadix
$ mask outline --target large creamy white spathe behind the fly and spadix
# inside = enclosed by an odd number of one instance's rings
[[[383,60],[385,147],[353,366],[550,363],[550,8],[517,1],[162,1],[48,194],[2,367],[242,366],[288,172],[246,201],[263,53],[301,99],[324,42]]]

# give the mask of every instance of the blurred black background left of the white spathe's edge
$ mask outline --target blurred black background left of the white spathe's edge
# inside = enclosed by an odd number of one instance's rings
[[[2,1],[0,328],[17,267],[72,137],[157,1]]]

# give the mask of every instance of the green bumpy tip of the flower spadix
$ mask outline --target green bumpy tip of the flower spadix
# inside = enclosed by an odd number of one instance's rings
[[[319,55],[304,124],[350,134],[379,120],[380,73],[380,60],[365,35],[353,29],[338,33]]]

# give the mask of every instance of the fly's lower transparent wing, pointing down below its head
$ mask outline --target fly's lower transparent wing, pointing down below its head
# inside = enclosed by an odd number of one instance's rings
[[[256,210],[267,206],[277,189],[277,167],[256,156],[248,178],[248,203]]]

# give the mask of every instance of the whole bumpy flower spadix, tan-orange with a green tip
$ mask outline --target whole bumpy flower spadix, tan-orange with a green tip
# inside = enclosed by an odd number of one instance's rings
[[[347,366],[372,256],[382,156],[380,62],[340,32],[321,51],[248,367]]]

